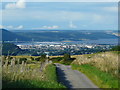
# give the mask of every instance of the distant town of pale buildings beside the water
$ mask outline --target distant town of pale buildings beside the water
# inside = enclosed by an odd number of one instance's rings
[[[108,51],[114,45],[43,42],[31,44],[17,44],[17,46],[23,50],[35,52],[35,55],[40,55],[48,52],[50,56],[56,56],[64,55],[64,53],[69,53],[71,55],[93,54],[96,52]]]

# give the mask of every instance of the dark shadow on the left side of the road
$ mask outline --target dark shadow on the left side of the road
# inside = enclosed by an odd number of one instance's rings
[[[72,88],[72,85],[65,77],[64,70],[61,70],[59,67],[56,68],[57,68],[58,82],[65,85],[67,88]]]

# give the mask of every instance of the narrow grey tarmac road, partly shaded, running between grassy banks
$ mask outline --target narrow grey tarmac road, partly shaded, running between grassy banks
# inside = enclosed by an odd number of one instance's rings
[[[67,88],[98,88],[83,73],[72,70],[71,66],[55,63],[58,81]]]

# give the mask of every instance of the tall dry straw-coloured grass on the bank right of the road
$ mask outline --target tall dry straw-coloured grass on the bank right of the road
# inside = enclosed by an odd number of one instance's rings
[[[114,76],[120,78],[119,74],[119,65],[118,65],[119,54],[114,52],[103,52],[97,54],[81,55],[77,56],[76,60],[72,64],[84,65],[90,64],[97,67],[101,71],[110,73]]]

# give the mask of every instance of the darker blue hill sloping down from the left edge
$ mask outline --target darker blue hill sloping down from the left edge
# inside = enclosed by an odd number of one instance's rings
[[[2,41],[15,41],[18,39],[19,41],[29,41],[30,38],[16,34],[14,32],[10,32],[6,29],[0,29],[0,32],[2,34]]]

